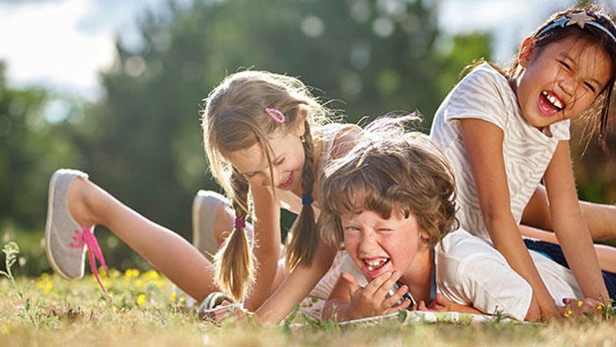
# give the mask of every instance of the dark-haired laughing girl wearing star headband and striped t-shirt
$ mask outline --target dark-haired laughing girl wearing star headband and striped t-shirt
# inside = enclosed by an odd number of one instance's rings
[[[509,71],[477,64],[435,114],[430,136],[454,166],[461,226],[489,241],[528,281],[544,319],[556,311],[536,266],[540,257],[570,268],[578,297],[606,304],[616,297],[614,275],[601,273],[593,248],[593,236],[615,238],[616,208],[580,207],[569,154],[573,118],[598,128],[605,141],[615,79],[614,22],[572,9],[528,36]],[[522,235],[557,238],[562,250]]]

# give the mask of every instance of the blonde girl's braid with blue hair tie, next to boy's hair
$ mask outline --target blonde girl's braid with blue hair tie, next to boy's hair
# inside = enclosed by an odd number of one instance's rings
[[[318,243],[318,233],[315,231],[316,223],[314,221],[314,210],[312,209],[312,186],[314,185],[315,176],[314,146],[312,144],[312,134],[308,121],[304,121],[302,144],[304,146],[302,210],[300,211],[300,215],[297,216],[297,219],[295,219],[288,234],[288,242],[285,250],[287,271],[293,270],[300,262],[309,265]]]

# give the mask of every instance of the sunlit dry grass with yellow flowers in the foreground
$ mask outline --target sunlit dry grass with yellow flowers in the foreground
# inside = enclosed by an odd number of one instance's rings
[[[10,257],[6,257],[9,259]],[[10,268],[10,267],[9,267]],[[0,277],[0,346],[612,346],[614,320],[564,320],[548,325],[485,324],[265,327],[200,320],[172,303],[172,284],[155,271],[103,275]],[[297,315],[295,322],[307,322]]]

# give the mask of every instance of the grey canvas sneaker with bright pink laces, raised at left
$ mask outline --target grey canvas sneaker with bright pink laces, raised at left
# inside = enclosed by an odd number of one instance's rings
[[[77,170],[57,170],[49,181],[47,222],[45,223],[45,250],[53,270],[72,280],[83,277],[86,247],[74,247],[77,224],[66,205],[66,194],[73,179],[87,179],[87,174]],[[92,226],[91,230],[93,230]],[[71,246],[73,243],[73,246]]]

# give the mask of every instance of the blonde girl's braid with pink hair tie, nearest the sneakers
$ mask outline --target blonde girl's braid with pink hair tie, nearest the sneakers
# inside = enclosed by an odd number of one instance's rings
[[[248,182],[237,170],[231,175],[235,228],[216,253],[216,285],[235,301],[246,296],[254,278],[255,259],[246,236],[248,216]]]

